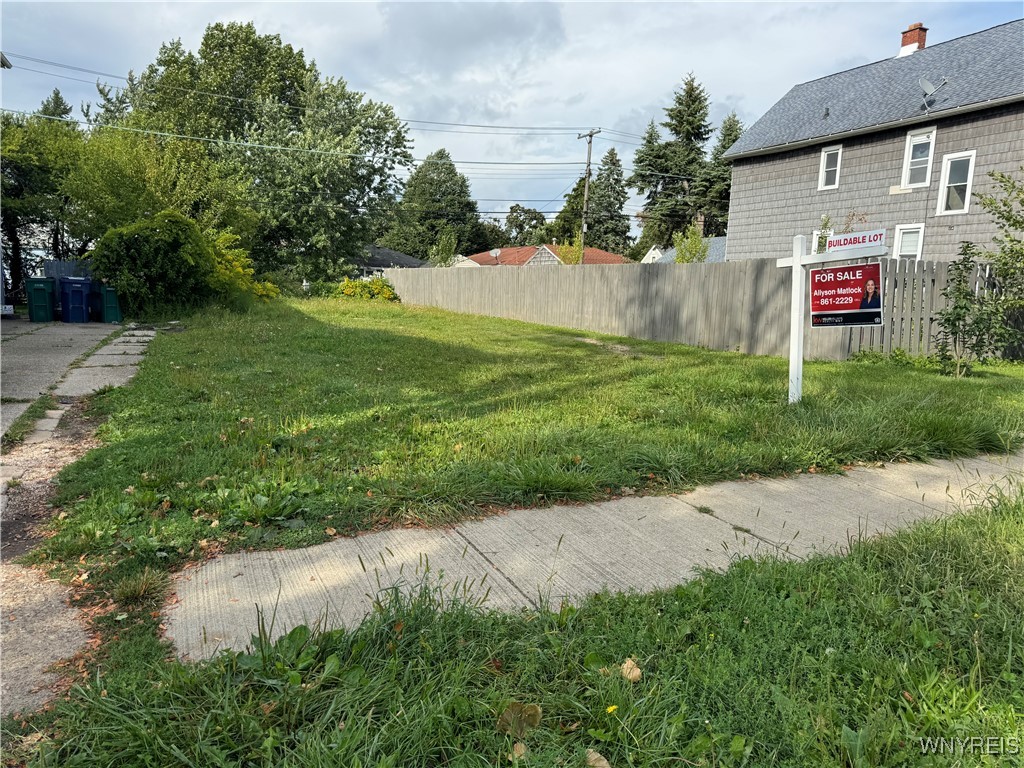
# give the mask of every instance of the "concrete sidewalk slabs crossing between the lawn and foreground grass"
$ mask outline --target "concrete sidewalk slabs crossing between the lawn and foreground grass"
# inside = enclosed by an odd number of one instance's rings
[[[267,621],[274,614],[274,635],[325,613],[332,626],[351,626],[381,589],[415,584],[428,568],[453,592],[486,595],[499,608],[557,605],[604,587],[666,588],[736,556],[842,551],[851,539],[973,506],[993,485],[1022,477],[1024,454],[888,465],[225,555],[178,577],[168,635],[185,657],[244,648],[256,634],[256,604]]]

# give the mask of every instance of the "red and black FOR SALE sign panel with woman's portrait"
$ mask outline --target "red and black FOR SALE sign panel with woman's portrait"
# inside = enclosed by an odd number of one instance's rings
[[[811,327],[882,325],[882,266],[811,269]]]

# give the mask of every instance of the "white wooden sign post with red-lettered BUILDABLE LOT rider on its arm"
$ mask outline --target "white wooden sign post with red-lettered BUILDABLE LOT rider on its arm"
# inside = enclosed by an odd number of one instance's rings
[[[852,232],[828,238],[825,253],[808,253],[807,236],[793,239],[793,256],[775,259],[775,265],[793,269],[793,293],[790,305],[790,402],[800,402],[804,391],[804,293],[807,266],[829,261],[849,261],[886,256],[886,230]]]

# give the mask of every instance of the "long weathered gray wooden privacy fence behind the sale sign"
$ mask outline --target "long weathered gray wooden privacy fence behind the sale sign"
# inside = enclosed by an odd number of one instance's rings
[[[947,265],[902,259],[880,263],[882,327],[811,330],[808,310],[807,358],[846,359],[862,349],[934,351]],[[788,350],[792,274],[776,267],[774,259],[387,269],[385,275],[407,304],[750,354]],[[983,280],[979,270],[977,290]]]

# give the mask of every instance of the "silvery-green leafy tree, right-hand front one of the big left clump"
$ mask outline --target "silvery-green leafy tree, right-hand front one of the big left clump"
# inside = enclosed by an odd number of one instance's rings
[[[247,134],[254,143],[287,151],[218,147],[215,158],[227,169],[222,205],[233,199],[237,180],[252,179],[242,199],[258,213],[258,237],[249,248],[257,269],[290,265],[301,276],[337,279],[361,258],[378,220],[394,206],[395,170],[412,158],[390,106],[311,73],[301,93],[298,123],[268,101]]]

